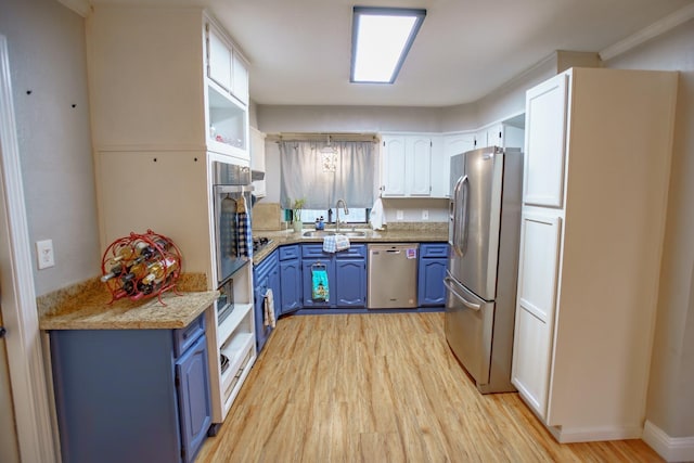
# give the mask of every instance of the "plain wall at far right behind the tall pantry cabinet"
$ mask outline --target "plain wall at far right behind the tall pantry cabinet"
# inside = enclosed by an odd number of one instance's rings
[[[694,21],[605,63],[679,70],[668,219],[646,417],[694,436]]]

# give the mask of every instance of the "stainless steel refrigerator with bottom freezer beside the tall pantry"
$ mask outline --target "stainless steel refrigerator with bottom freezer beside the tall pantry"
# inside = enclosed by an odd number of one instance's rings
[[[451,157],[446,338],[483,394],[511,384],[523,154],[497,146]]]

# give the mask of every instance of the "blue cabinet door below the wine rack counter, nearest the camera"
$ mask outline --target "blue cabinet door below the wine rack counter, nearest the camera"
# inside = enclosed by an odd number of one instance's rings
[[[178,412],[184,462],[194,460],[211,424],[209,375],[207,374],[207,338],[201,336],[176,361]]]

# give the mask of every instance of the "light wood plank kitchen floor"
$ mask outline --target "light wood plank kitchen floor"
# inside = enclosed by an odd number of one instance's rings
[[[278,321],[207,462],[660,462],[642,440],[560,445],[517,394],[480,395],[442,313]]]

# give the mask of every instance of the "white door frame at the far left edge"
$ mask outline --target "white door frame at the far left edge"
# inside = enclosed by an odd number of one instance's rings
[[[20,455],[60,461],[39,331],[7,38],[0,35],[0,292]]]

